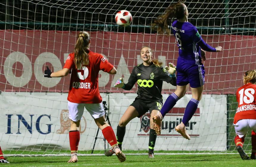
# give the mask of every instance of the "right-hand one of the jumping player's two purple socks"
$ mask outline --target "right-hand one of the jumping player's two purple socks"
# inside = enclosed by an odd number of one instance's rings
[[[194,113],[196,112],[197,106],[199,104],[199,101],[196,99],[191,98],[190,101],[188,102],[188,105],[185,109],[185,113],[182,119],[182,122],[186,126],[188,121],[192,118]]]

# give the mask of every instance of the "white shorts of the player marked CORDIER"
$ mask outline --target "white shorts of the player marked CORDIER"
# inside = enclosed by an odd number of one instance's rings
[[[79,121],[81,120],[84,109],[86,109],[93,119],[100,118],[105,115],[105,110],[103,107],[102,102],[96,104],[85,104],[85,103],[72,103],[68,101],[68,118],[72,121]]]

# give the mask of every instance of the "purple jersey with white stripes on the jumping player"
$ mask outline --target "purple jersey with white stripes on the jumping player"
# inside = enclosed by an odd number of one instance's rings
[[[179,47],[179,59],[183,59],[189,64],[201,64],[201,51],[197,43],[202,40],[202,37],[196,27],[189,22],[175,20],[171,30]]]

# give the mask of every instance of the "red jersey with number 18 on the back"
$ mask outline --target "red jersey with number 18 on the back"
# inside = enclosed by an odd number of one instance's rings
[[[256,85],[248,83],[236,92],[238,108],[235,113],[234,123],[241,119],[256,119]]]

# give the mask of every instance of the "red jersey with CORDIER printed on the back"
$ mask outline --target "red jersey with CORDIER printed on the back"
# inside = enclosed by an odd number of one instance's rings
[[[89,50],[89,64],[77,69],[74,63],[75,55],[68,55],[63,68],[72,69],[68,101],[73,103],[101,103],[99,94],[99,71],[110,72],[114,67],[99,53]]]

